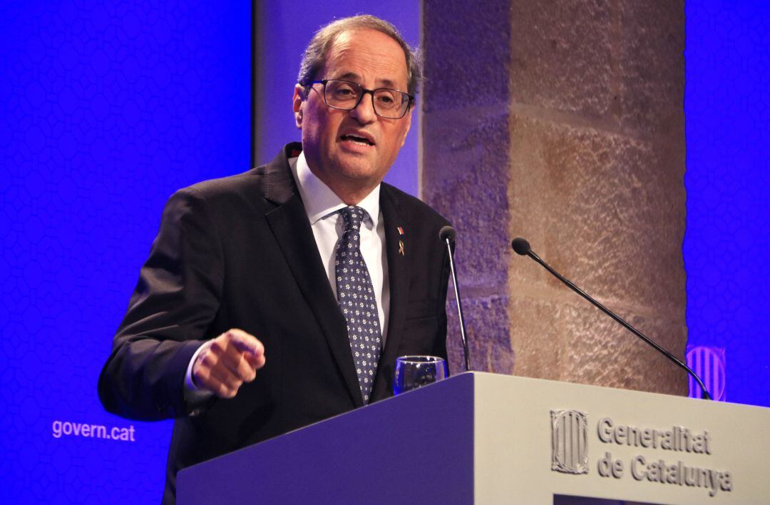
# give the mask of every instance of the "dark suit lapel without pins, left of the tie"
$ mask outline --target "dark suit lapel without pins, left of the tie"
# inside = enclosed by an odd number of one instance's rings
[[[323,270],[313,230],[288,168],[286,155],[266,166],[264,189],[266,198],[277,204],[275,209],[267,212],[267,222],[307,304],[316,315],[353,403],[361,406],[363,399],[350,353],[345,318]]]

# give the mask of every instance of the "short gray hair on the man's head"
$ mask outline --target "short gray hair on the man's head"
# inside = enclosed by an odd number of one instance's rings
[[[297,75],[296,81],[300,85],[306,86],[316,80],[317,73],[326,62],[326,55],[337,36],[343,32],[360,29],[383,32],[398,42],[403,49],[403,55],[407,59],[407,91],[410,95],[414,95],[417,92],[417,85],[420,83],[423,75],[420,53],[403,40],[395,26],[373,15],[357,15],[350,18],[337,19],[319,28],[305,49],[305,54],[300,63],[300,74]]]

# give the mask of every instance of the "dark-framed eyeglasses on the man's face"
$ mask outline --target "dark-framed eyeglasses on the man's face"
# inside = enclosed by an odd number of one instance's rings
[[[323,84],[323,101],[332,109],[353,110],[363,99],[363,95],[372,95],[374,113],[381,118],[401,119],[409,110],[414,97],[403,91],[390,88],[365,89],[360,84],[336,79],[323,79],[306,84]]]

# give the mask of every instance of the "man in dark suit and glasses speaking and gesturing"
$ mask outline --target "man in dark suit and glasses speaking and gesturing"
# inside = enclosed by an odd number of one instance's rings
[[[387,22],[333,22],[300,69],[301,145],[169,199],[99,377],[110,412],[176,419],[165,501],[184,467],[390,396],[397,356],[446,357],[447,221],[382,182],[418,77]]]

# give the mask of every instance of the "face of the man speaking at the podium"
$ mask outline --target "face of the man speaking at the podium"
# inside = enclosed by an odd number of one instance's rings
[[[365,89],[406,92],[407,62],[398,42],[382,32],[343,32],[330,47],[315,79],[341,79],[357,82]],[[331,109],[323,101],[320,84],[313,85],[306,98],[302,87],[296,85],[293,105],[308,166],[346,203],[357,203],[349,200],[363,198],[382,182],[411,125],[411,109],[401,119],[376,115],[370,94],[351,111]]]

